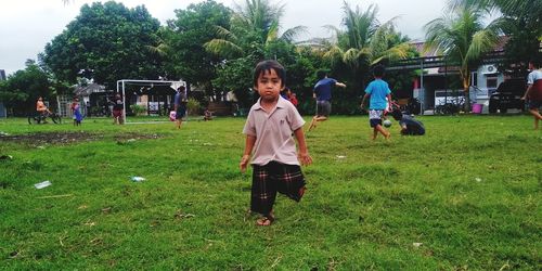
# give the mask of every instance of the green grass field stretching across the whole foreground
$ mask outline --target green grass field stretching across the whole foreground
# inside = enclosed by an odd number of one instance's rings
[[[418,119],[427,136],[388,142],[364,116],[319,126],[308,191],[269,228],[247,214],[242,118],[0,120],[0,269],[541,270],[532,118]]]

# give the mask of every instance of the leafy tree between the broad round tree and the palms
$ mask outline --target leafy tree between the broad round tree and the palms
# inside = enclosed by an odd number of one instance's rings
[[[231,11],[208,0],[177,10],[163,33],[169,74],[202,86],[214,93],[212,79],[223,59],[205,50],[204,43],[217,38],[216,27],[229,28]]]

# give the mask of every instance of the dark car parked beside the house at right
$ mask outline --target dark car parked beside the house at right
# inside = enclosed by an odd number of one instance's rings
[[[489,113],[506,113],[511,108],[525,109],[525,101],[521,96],[527,85],[524,78],[507,79],[496,88],[496,91],[489,96]]]

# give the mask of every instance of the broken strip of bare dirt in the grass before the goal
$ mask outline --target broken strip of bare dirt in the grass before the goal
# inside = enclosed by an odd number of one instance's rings
[[[122,133],[114,136],[116,141],[126,140],[140,140],[140,139],[157,139],[158,134],[144,134],[144,133]],[[24,143],[35,146],[40,146],[44,144],[73,144],[79,142],[90,142],[104,139],[104,134],[92,133],[92,132],[40,132],[40,133],[28,133],[28,134],[16,134],[16,136],[4,136],[0,134],[0,142],[12,141],[17,143]]]

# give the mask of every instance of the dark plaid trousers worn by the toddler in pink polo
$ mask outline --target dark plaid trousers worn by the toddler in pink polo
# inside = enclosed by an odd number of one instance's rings
[[[250,210],[263,216],[273,209],[276,192],[299,202],[305,188],[301,167],[270,162],[264,166],[253,165]]]

